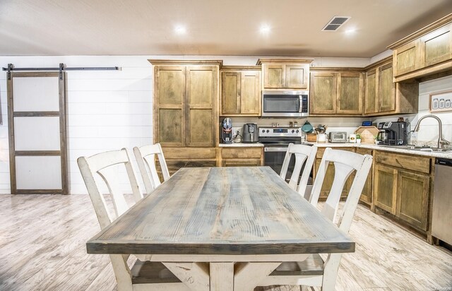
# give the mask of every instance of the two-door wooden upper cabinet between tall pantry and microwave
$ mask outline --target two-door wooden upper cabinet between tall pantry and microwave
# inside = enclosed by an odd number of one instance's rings
[[[224,69],[224,70],[223,70]],[[223,67],[220,116],[261,114],[261,71]],[[238,71],[237,71],[238,70]]]

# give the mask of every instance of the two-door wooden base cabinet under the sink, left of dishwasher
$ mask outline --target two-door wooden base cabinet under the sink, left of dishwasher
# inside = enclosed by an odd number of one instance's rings
[[[432,158],[376,151],[375,163],[374,205],[427,231]]]

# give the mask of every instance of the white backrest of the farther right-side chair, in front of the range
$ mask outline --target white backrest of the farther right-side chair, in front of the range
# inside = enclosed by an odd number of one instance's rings
[[[316,160],[316,153],[317,147],[315,145],[295,145],[294,143],[290,143],[289,147],[287,148],[283,166],[281,167],[280,177],[282,179],[285,179],[285,177],[287,176],[290,159],[292,158],[292,155],[295,155],[295,167],[292,175],[290,176],[289,186],[292,189],[297,190],[299,194],[304,195],[312,165],[314,165],[314,161]],[[303,165],[304,170],[302,172]],[[302,178],[300,179],[297,189],[300,172],[302,172]]]

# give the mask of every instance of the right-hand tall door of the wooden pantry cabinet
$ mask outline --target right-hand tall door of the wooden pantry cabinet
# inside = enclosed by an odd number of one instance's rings
[[[215,146],[218,67],[187,66],[186,145]]]

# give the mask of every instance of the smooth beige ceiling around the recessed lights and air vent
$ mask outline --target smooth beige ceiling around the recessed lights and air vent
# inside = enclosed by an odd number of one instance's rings
[[[448,13],[452,0],[0,0],[0,56],[369,58]],[[333,16],[351,18],[322,32]]]

